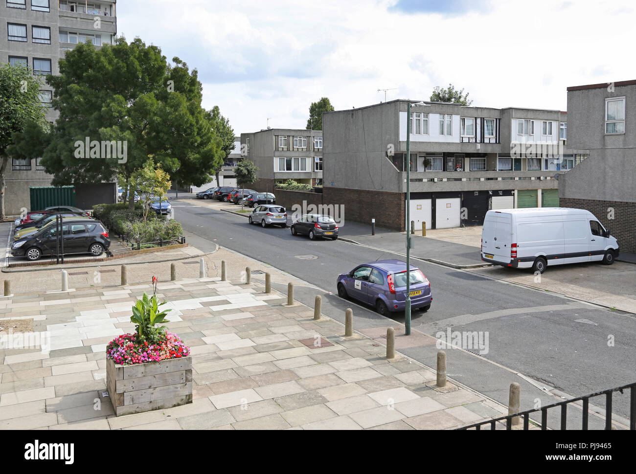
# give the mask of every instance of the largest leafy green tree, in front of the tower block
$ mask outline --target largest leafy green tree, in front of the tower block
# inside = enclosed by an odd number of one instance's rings
[[[118,38],[99,50],[90,43],[76,46],[60,59],[60,75],[47,77],[60,112],[54,129],[47,136],[24,134],[19,148],[39,141],[41,163],[55,186],[119,175],[130,197],[130,178],[148,158],[180,183],[205,183],[218,141],[201,108],[196,69],[173,61],[176,66],[139,38]],[[133,199],[128,206],[134,208]]]

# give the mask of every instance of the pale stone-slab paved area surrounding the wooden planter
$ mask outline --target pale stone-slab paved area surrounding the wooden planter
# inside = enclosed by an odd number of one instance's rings
[[[449,429],[507,412],[451,380],[437,389],[436,374],[415,361],[387,360],[382,330],[345,338],[342,324],[314,321],[312,309],[287,306],[259,282],[209,277],[158,285],[169,330],[192,349],[193,403],[115,417],[99,401],[104,350],[134,331],[130,306],[144,291],[151,286],[2,298],[0,325],[31,318],[50,351],[0,349],[0,428]]]

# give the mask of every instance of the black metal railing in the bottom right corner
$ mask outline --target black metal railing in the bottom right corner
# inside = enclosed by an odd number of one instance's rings
[[[477,431],[481,430],[482,426],[490,425],[490,429],[497,429],[497,422],[506,422],[506,429],[512,429],[513,418],[523,417],[523,429],[529,429],[530,426],[530,414],[541,412],[541,429],[548,429],[548,410],[550,408],[560,407],[560,429],[566,429],[567,427],[567,405],[575,403],[577,401],[583,401],[583,426],[581,429],[588,429],[588,421],[590,419],[590,398],[595,396],[605,395],[605,429],[612,429],[612,393],[620,392],[630,389],[630,429],[636,430],[636,382],[622,387],[616,387],[612,389],[602,390],[600,392],[591,393],[589,395],[579,396],[572,398],[571,400],[558,401],[545,407],[535,408],[534,410],[526,410],[525,412],[513,413],[510,415],[501,416],[488,421],[481,421],[479,423],[470,424],[468,426],[462,426],[457,428],[459,430],[474,428]],[[577,405],[578,406],[578,405]]]

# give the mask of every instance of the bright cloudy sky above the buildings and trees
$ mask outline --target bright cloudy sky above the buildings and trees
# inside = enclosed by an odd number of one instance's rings
[[[152,5],[151,7],[149,5]],[[428,100],[567,109],[566,88],[636,79],[636,3],[533,0],[120,0],[118,34],[196,68],[235,134],[336,110]],[[268,120],[269,119],[269,120]]]

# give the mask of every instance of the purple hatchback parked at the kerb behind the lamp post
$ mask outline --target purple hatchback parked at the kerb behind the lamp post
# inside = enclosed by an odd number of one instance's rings
[[[411,308],[427,311],[431,307],[431,283],[417,267],[411,265]],[[349,273],[338,275],[338,296],[350,296],[375,306],[382,316],[403,311],[406,302],[406,263],[380,260],[359,265]]]

